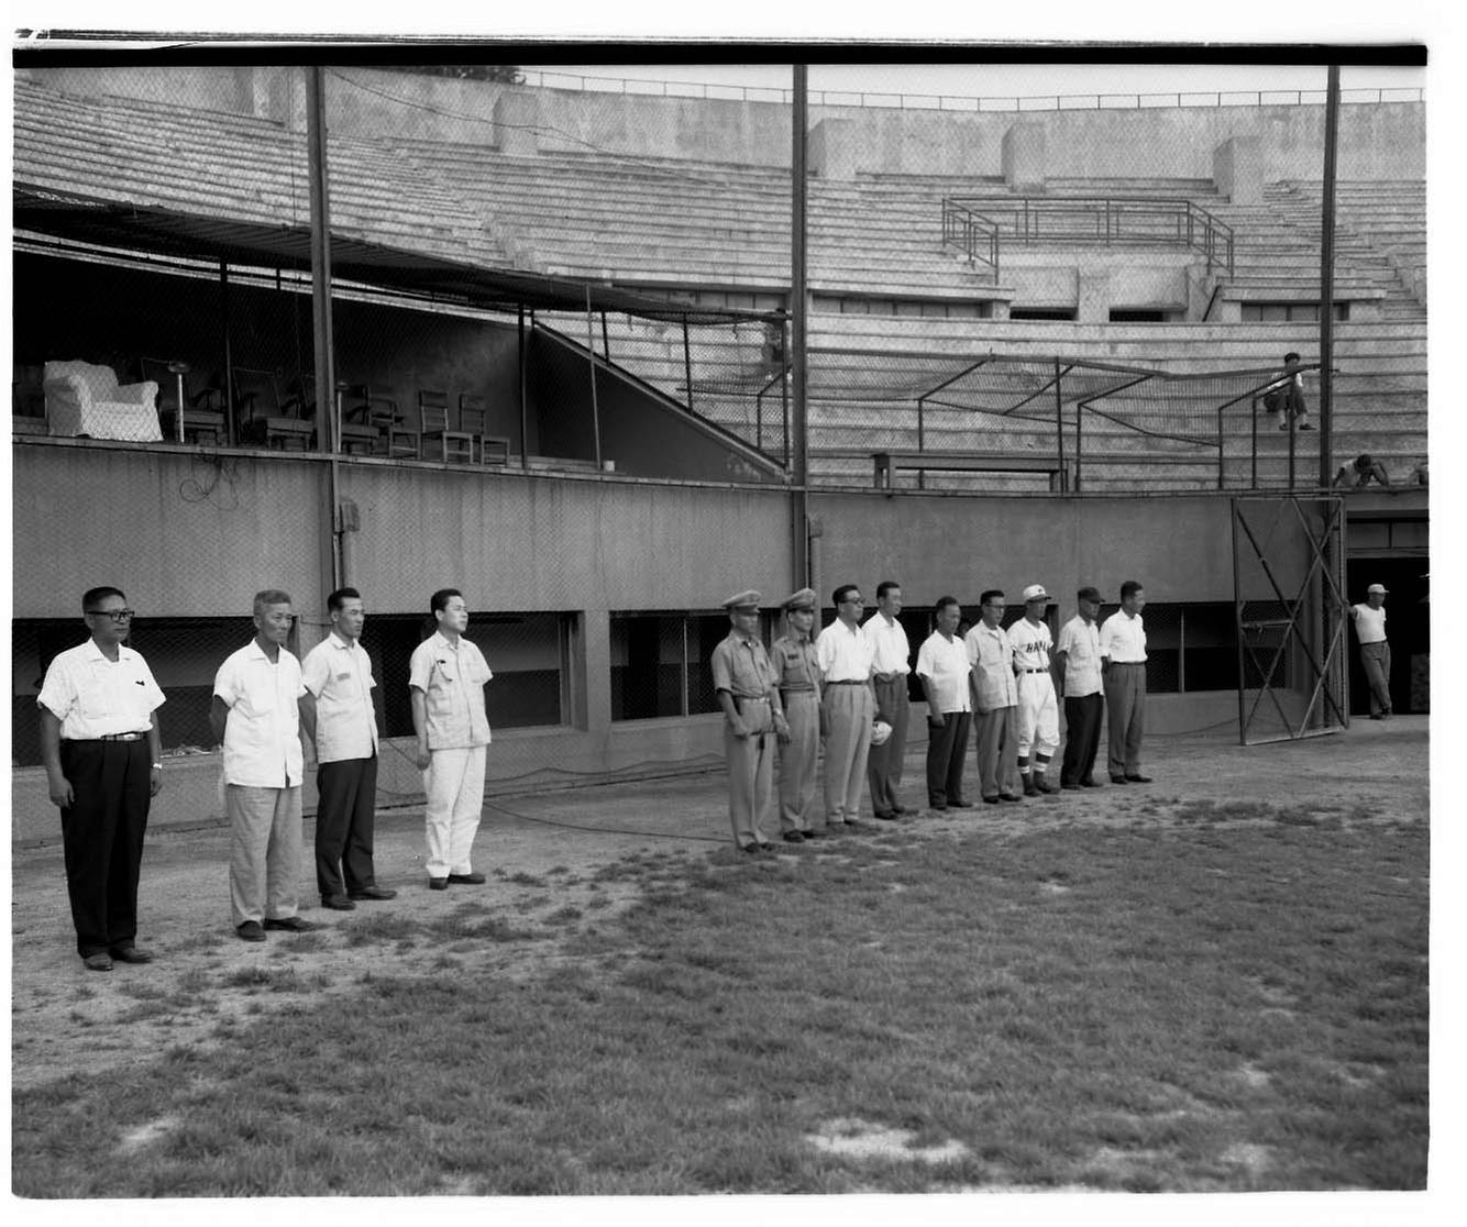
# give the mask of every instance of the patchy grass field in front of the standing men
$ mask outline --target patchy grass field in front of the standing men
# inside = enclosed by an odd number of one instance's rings
[[[641,853],[578,883],[632,885],[628,907],[358,912],[248,970],[139,979],[153,1019],[249,1006],[207,1044],[16,1091],[13,1189],[1424,1187],[1424,821],[983,815]],[[417,970],[323,991],[336,943]],[[506,944],[525,970],[486,973]]]

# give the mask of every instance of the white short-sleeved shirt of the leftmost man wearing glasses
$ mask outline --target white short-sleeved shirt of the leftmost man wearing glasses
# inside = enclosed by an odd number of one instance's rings
[[[107,660],[95,639],[57,652],[45,670],[40,707],[62,721],[62,737],[89,742],[114,733],[144,733],[164,702],[153,671],[132,648]]]

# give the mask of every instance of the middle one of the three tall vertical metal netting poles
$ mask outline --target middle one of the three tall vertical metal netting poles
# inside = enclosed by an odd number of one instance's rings
[[[808,381],[810,369],[805,361],[808,340],[808,308],[805,268],[805,232],[808,204],[807,191],[807,136],[808,136],[808,65],[794,66],[794,107],[791,132],[789,167],[789,375],[791,375],[791,478],[794,493],[789,500],[789,545],[794,586],[802,588],[810,578],[810,431],[808,431]]]

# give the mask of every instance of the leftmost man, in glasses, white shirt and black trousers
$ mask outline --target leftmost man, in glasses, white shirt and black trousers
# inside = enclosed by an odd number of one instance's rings
[[[138,872],[148,806],[163,787],[164,699],[147,661],[122,646],[132,614],[120,589],[89,589],[82,617],[91,638],[57,654],[37,696],[76,953],[92,972],[110,972],[113,959],[153,962],[136,946]]]

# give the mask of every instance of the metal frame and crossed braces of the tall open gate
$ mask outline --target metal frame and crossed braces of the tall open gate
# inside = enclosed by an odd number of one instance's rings
[[[1309,519],[1304,515],[1301,503],[1307,498],[1309,503],[1323,504],[1325,522],[1323,528],[1316,537],[1314,531],[1310,528]],[[1234,611],[1234,626],[1238,642],[1238,742],[1240,745],[1265,745],[1267,742],[1284,742],[1284,740],[1298,740],[1301,737],[1319,737],[1328,733],[1338,733],[1350,727],[1350,704],[1344,701],[1347,679],[1344,674],[1345,667],[1345,501],[1339,495],[1332,494],[1316,494],[1316,495],[1295,495],[1295,494],[1279,494],[1273,497],[1244,497],[1232,498],[1232,611]],[[1298,591],[1294,594],[1294,600],[1289,601],[1284,595],[1284,589],[1279,586],[1278,579],[1273,575],[1273,567],[1269,564],[1267,551],[1259,544],[1259,538],[1254,534],[1254,525],[1248,523],[1245,513],[1247,504],[1267,504],[1275,509],[1273,525],[1278,525],[1279,515],[1278,509],[1288,506],[1298,526],[1304,534],[1304,539],[1309,542],[1310,559],[1309,567],[1304,572],[1304,578],[1300,582]],[[1257,559],[1259,566],[1263,570],[1265,578],[1269,581],[1269,586],[1273,589],[1273,595],[1278,597],[1279,604],[1288,611],[1287,617],[1282,619],[1251,619],[1244,620],[1243,607],[1245,604],[1243,597],[1243,576],[1241,576],[1241,559],[1243,559],[1243,542],[1240,541],[1240,531],[1247,544],[1253,547],[1253,554]],[[1309,592],[1310,585],[1319,576],[1325,583],[1323,591],[1323,610],[1320,611],[1325,617],[1325,635],[1328,638],[1328,646],[1323,654],[1323,663],[1316,658],[1313,648],[1310,646],[1309,636],[1303,635],[1300,630],[1300,620],[1313,613],[1310,607],[1306,607],[1304,597]],[[1284,638],[1279,641],[1278,646],[1273,649],[1273,657],[1267,663],[1267,668],[1259,660],[1257,652],[1248,642],[1248,632],[1263,630],[1267,627],[1284,627]],[[1313,668],[1314,688],[1309,698],[1309,704],[1304,710],[1304,715],[1294,727],[1289,721],[1282,704],[1279,704],[1278,695],[1273,692],[1273,676],[1284,660],[1287,649],[1291,642],[1297,642],[1304,660],[1309,661]],[[1263,686],[1253,699],[1251,708],[1247,704],[1247,680],[1248,674],[1245,670],[1245,661],[1251,660],[1259,668],[1263,677]],[[1331,685],[1331,682],[1334,685]],[[1282,736],[1251,736],[1250,730],[1253,720],[1257,715],[1259,707],[1263,699],[1269,698],[1273,702],[1273,710],[1278,711],[1284,729],[1287,730]],[[1322,702],[1323,701],[1323,702]],[[1329,723],[1329,714],[1334,714],[1335,723]],[[1310,729],[1310,723],[1316,720],[1316,715],[1323,715],[1325,723],[1320,727]]]

